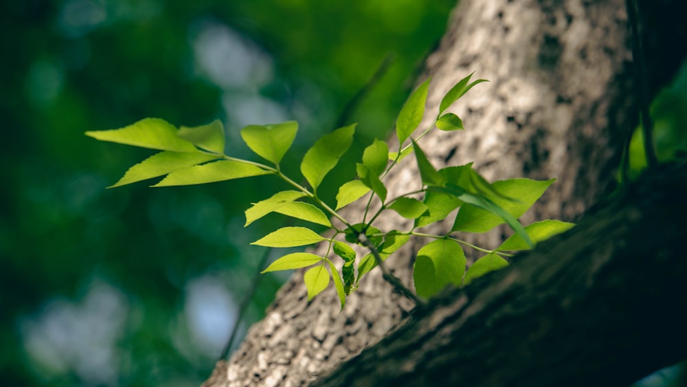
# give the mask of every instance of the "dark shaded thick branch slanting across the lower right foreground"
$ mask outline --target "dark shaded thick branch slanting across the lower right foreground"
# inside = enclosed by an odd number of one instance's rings
[[[687,357],[687,165],[453,290],[314,386],[627,386]]]

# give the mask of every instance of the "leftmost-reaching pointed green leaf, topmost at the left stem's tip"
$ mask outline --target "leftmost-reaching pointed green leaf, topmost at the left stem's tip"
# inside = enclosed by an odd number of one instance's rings
[[[177,128],[159,118],[144,118],[121,129],[87,131],[86,135],[100,141],[117,142],[118,144],[159,149],[160,151],[198,152],[193,144],[177,136]]]

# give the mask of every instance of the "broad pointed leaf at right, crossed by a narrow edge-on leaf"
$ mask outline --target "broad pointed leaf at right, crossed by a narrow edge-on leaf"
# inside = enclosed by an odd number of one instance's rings
[[[512,217],[519,218],[541,197],[554,180],[508,179],[495,181],[492,186],[502,197],[492,197],[491,200]],[[506,199],[506,197],[512,199]],[[487,232],[502,223],[504,223],[502,217],[484,208],[461,206],[451,231]]]

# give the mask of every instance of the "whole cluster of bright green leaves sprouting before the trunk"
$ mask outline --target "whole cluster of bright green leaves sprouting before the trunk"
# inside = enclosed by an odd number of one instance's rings
[[[177,129],[164,120],[146,118],[121,129],[89,131],[86,134],[102,141],[161,151],[129,168],[111,187],[161,176],[165,177],[155,187],[205,184],[258,175],[275,175],[286,181],[293,189],[277,192],[253,203],[245,211],[245,226],[267,214],[278,212],[286,217],[324,225],[333,230],[332,236],[325,237],[307,227],[282,227],[251,243],[264,247],[299,247],[326,243],[328,248],[322,256],[309,252],[286,254],[263,271],[309,267],[303,276],[308,289],[308,300],[326,289],[330,280],[333,280],[343,309],[346,297],[359,287],[361,278],[380,266],[385,279],[401,288],[399,290],[403,294],[416,302],[422,302],[423,298],[437,294],[446,286],[467,285],[479,276],[506,267],[508,258],[515,252],[531,249],[539,241],[572,227],[572,223],[553,220],[524,227],[517,220],[541,197],[553,183],[553,179],[507,179],[489,183],[471,164],[436,169],[420,148],[420,140],[435,127],[442,131],[463,129],[462,120],[455,113],[447,112],[447,109],[472,87],[485,82],[483,79],[471,82],[471,76],[472,74],[460,80],[446,93],[431,125],[414,137],[425,116],[429,80],[420,85],[398,114],[398,149],[390,151],[386,142],[374,140],[365,148],[361,162],[356,164],[357,177],[339,187],[333,206],[320,199],[317,188],[350,148],[355,124],[324,135],[308,149],[300,164],[300,181],[304,181],[303,184],[297,183],[299,179],[284,175],[280,168],[280,162],[297,134],[298,124],[294,121],[249,125],[241,129],[240,135],[245,144],[264,162],[225,155],[225,134],[219,121],[196,127],[181,126]],[[422,188],[390,198],[385,177],[403,157],[410,154],[415,155]],[[352,224],[339,210],[363,197],[367,197],[363,222]],[[379,206],[374,207],[379,208],[378,210],[372,211],[373,200],[379,201]],[[456,209],[458,211],[452,219],[453,226],[447,234],[434,235],[419,231],[431,223],[446,219]],[[412,228],[376,228],[374,221],[388,210],[414,221]],[[504,223],[515,233],[491,250],[471,245],[458,237],[462,232],[488,232]],[[384,264],[412,236],[432,239],[417,252],[414,264],[417,296],[405,289]],[[369,253],[358,257],[352,248],[356,244]],[[484,253],[467,270],[464,247]],[[341,260],[341,272],[335,265],[337,259]]]

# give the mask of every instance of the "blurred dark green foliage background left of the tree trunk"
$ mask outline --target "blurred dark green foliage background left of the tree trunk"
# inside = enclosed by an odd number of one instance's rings
[[[269,178],[106,190],[154,152],[85,131],[219,118],[227,153],[250,157],[242,126],[295,119],[295,160],[392,55],[346,116],[359,122],[350,163],[392,129],[454,3],[3,1],[2,384],[200,384],[258,270],[248,243],[280,222],[243,228],[249,203],[280,188]],[[284,278],[261,278],[244,327]]]

